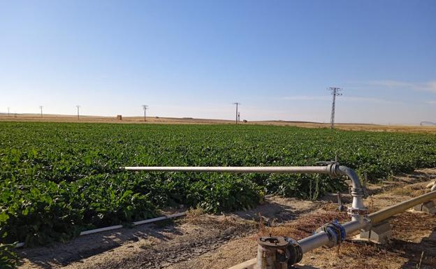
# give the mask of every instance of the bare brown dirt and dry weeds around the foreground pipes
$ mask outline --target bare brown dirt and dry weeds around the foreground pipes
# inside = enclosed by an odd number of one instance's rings
[[[366,203],[376,211],[405,201],[423,194],[423,188],[435,178],[436,168],[423,169],[382,185],[370,185],[372,196]],[[275,196],[245,212],[215,216],[193,211],[172,223],[123,228],[52,247],[22,249],[24,263],[20,268],[229,268],[256,256],[256,238],[261,234],[300,239],[333,219],[347,221],[346,214],[335,211],[331,198],[311,202]],[[344,201],[351,201],[351,197],[344,194]],[[305,254],[296,267],[412,269],[421,260],[421,269],[436,268],[436,216],[404,212],[391,219],[391,224],[393,240],[387,245],[347,240],[340,249],[321,248]]]

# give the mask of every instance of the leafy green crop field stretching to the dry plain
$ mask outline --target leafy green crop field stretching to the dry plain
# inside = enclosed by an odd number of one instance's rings
[[[119,166],[313,166],[338,160],[370,180],[436,166],[431,134],[284,126],[0,123],[0,242],[44,245],[183,204],[252,208],[264,194],[315,199],[321,175],[135,173]]]

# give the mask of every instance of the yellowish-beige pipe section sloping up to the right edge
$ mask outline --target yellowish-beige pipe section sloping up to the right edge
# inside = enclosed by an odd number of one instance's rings
[[[371,219],[372,224],[377,224],[381,221],[384,221],[385,219],[388,219],[389,217],[392,217],[393,215],[408,210],[409,208],[413,208],[415,205],[425,203],[435,198],[436,198],[436,191],[431,191],[428,194],[423,194],[421,196],[412,198],[410,200],[404,201],[397,205],[392,205],[388,208],[384,208],[383,210],[374,212],[370,214],[368,217]]]

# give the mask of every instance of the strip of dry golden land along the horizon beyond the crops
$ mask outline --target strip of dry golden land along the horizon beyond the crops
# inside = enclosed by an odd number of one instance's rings
[[[44,115],[41,117],[36,114],[10,114],[10,117],[0,114],[1,121],[15,122],[106,122],[106,123],[136,123],[144,124],[143,117],[123,117],[118,120],[116,117],[98,117],[98,116],[80,116],[78,119],[74,115]],[[147,117],[146,123],[154,124],[234,124],[233,120],[226,119],[193,119],[193,118],[175,118],[175,117]],[[330,124],[317,122],[298,122],[298,121],[249,121],[241,124],[261,124],[275,126],[299,126],[305,128],[329,128]],[[335,124],[337,129],[351,131],[392,131],[407,133],[436,133],[436,126],[401,126],[401,125],[378,125],[378,124]]]

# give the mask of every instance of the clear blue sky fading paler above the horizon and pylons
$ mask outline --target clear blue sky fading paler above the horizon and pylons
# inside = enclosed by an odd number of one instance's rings
[[[0,0],[0,112],[436,122],[436,1]]]

